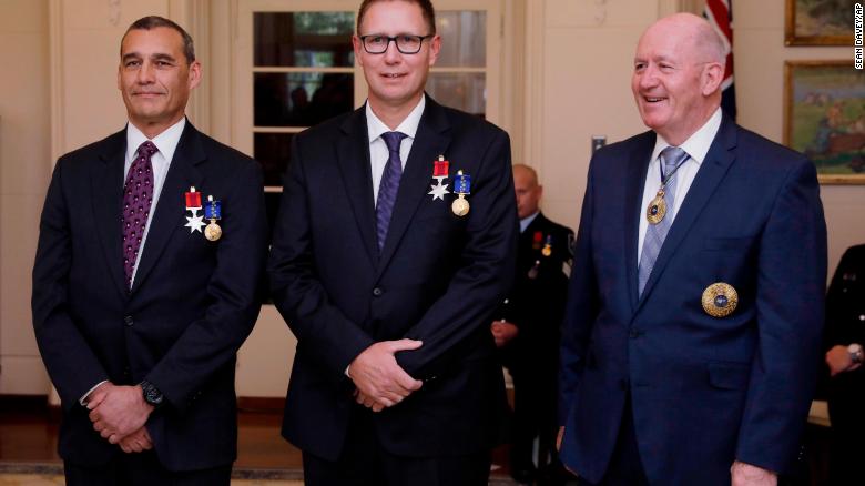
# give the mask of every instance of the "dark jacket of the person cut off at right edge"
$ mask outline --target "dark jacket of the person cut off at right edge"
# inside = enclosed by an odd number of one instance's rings
[[[825,336],[824,351],[851,343],[865,345],[865,245],[847,249],[835,270],[826,294]],[[827,382],[832,428],[862,447],[865,368],[841,373]]]

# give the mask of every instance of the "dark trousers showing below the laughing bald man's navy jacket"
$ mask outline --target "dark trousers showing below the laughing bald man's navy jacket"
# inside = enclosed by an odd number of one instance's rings
[[[637,432],[633,426],[630,394],[624,403],[619,437],[615,439],[615,448],[603,479],[597,484],[580,479],[580,484],[587,486],[649,486],[649,479],[645,478],[643,463],[640,459],[640,450],[637,447]]]

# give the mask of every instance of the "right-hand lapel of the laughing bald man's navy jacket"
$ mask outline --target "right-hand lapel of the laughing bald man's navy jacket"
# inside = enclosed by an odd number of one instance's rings
[[[652,288],[660,279],[664,267],[675,254],[675,250],[688,235],[688,231],[693,225],[696,217],[703,212],[706,203],[712,198],[715,189],[724,179],[726,171],[735,160],[734,149],[736,146],[736,126],[732,120],[724,117],[721,128],[712,142],[712,146],[706,153],[705,160],[700,165],[700,170],[694,178],[691,188],[685,194],[684,201],[675,215],[673,225],[664,239],[661,252],[658,254],[652,273],[645,283],[640,305],[652,293]]]

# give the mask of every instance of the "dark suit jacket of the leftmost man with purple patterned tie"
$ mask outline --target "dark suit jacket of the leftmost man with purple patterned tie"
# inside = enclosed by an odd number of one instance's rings
[[[230,464],[235,353],[258,315],[266,257],[261,169],[187,122],[130,291],[121,253],[125,150],[123,130],[60,158],[42,211],[33,325],[63,405],[60,455],[99,465],[122,454],[78,401],[103,379],[147,379],[167,401],[146,425],[165,467]],[[191,185],[222,200],[217,242],[183,226]]]

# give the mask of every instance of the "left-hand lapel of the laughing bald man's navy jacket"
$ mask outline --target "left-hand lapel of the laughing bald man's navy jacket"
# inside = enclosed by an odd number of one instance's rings
[[[654,132],[647,132],[640,139],[638,145],[631,152],[628,163],[628,174],[625,178],[625,201],[624,201],[624,265],[628,275],[628,297],[631,308],[637,307],[639,298],[638,293],[638,271],[639,261],[638,247],[640,243],[640,217],[643,215],[642,199],[643,188],[645,186],[645,172],[651,162],[652,149],[654,148]]]

